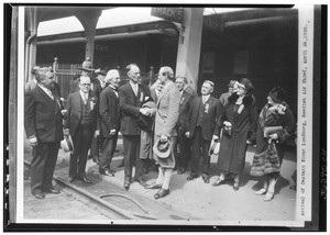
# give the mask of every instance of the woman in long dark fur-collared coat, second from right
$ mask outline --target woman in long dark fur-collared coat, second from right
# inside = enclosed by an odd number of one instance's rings
[[[244,170],[248,142],[255,139],[257,110],[252,94],[253,86],[248,78],[235,83],[233,92],[219,119],[223,127],[217,167],[220,177],[213,187],[226,181],[227,176],[234,178],[233,190],[239,190],[240,175]],[[251,133],[249,139],[249,133]]]

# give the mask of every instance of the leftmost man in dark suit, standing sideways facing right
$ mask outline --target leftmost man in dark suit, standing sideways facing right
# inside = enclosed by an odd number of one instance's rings
[[[48,68],[35,71],[36,87],[25,93],[24,126],[26,137],[35,148],[31,161],[31,192],[43,199],[44,192],[59,193],[52,179],[59,143],[63,139],[63,119],[59,98],[50,90],[54,74]]]

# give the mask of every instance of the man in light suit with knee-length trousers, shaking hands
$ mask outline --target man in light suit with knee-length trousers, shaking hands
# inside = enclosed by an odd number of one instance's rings
[[[155,114],[155,136],[154,143],[169,142],[172,147],[169,156],[161,158],[156,154],[155,160],[158,163],[158,177],[155,183],[146,186],[146,189],[160,189],[154,195],[155,199],[164,198],[169,194],[169,181],[173,169],[175,167],[174,149],[177,133],[175,130],[178,121],[178,111],[180,94],[174,83],[174,71],[170,67],[162,67],[158,72],[158,79],[164,83],[164,88],[160,93],[156,110],[152,113]]]

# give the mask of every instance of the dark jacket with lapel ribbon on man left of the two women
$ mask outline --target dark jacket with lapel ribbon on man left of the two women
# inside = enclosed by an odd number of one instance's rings
[[[189,137],[193,137],[195,128],[198,124],[199,107],[201,104],[202,119],[200,126],[202,128],[202,137],[206,141],[211,141],[212,135],[219,135],[218,119],[221,113],[221,103],[218,99],[210,97],[206,104],[202,104],[201,97],[194,98],[190,102],[188,115],[187,115],[187,131],[190,132]],[[209,107],[208,110],[206,107]],[[206,112],[207,110],[207,112]]]

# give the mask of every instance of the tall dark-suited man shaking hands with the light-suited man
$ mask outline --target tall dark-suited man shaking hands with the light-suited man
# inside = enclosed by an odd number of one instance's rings
[[[150,98],[150,90],[139,85],[140,68],[135,64],[127,67],[130,81],[119,88],[119,104],[122,111],[120,132],[123,135],[124,147],[124,188],[129,190],[132,179],[132,166],[135,163],[135,181],[145,186],[142,179],[144,172],[144,159],[140,158],[141,128],[138,118],[148,115],[148,110],[141,108],[142,102]]]

